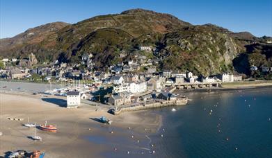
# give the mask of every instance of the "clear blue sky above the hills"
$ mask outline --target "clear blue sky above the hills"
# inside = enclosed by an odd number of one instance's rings
[[[234,32],[272,36],[272,0],[0,0],[0,38],[41,24],[71,24],[131,8],[166,12],[191,24],[216,24]]]

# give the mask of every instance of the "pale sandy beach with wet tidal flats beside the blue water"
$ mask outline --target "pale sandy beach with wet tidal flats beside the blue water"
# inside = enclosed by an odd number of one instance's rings
[[[148,135],[157,132],[161,125],[158,114],[141,111],[113,116],[107,109],[90,105],[66,109],[58,104],[64,102],[65,98],[1,93],[0,132],[3,135],[0,137],[0,156],[21,149],[45,151],[46,157],[125,157],[128,150],[150,155],[152,147]],[[106,125],[97,121],[101,116],[113,123]],[[8,117],[23,118],[24,121],[10,121]],[[33,141],[29,137],[33,136],[34,128],[23,125],[28,117],[30,122],[37,124],[47,121],[57,125],[58,132],[37,129],[42,141]]]

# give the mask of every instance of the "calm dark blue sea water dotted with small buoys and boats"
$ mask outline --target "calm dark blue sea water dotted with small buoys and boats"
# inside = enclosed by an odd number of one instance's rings
[[[188,96],[176,112],[154,111],[163,115],[156,157],[272,157],[272,89]]]

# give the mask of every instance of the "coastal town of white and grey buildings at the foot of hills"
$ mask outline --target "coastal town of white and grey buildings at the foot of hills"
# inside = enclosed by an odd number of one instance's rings
[[[145,54],[156,53],[152,46],[140,46],[139,51]],[[146,55],[136,55],[135,59],[111,65],[109,71],[95,71],[92,53],[82,55],[81,62],[77,64],[58,60],[38,64],[35,55],[31,53],[29,58],[24,59],[3,58],[1,62],[5,67],[1,68],[0,75],[2,80],[61,84],[63,87],[60,89],[44,89],[35,93],[67,96],[67,107],[79,107],[81,100],[113,105],[113,114],[118,114],[121,109],[133,111],[157,104],[157,107],[184,105],[187,98],[173,93],[176,89],[209,90],[220,88],[224,82],[240,82],[245,79],[245,76],[228,72],[216,76],[196,76],[191,71],[159,71],[159,59],[147,59]],[[250,71],[271,73],[272,67],[258,68],[253,65]],[[71,96],[74,101],[69,101]]]

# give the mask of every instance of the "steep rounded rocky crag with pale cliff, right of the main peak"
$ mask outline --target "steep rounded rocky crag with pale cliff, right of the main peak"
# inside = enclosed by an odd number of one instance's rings
[[[232,37],[216,26],[183,28],[168,33],[162,43],[166,47],[161,51],[168,54],[162,67],[185,69],[203,75],[232,71],[232,60],[239,53],[239,47]]]

